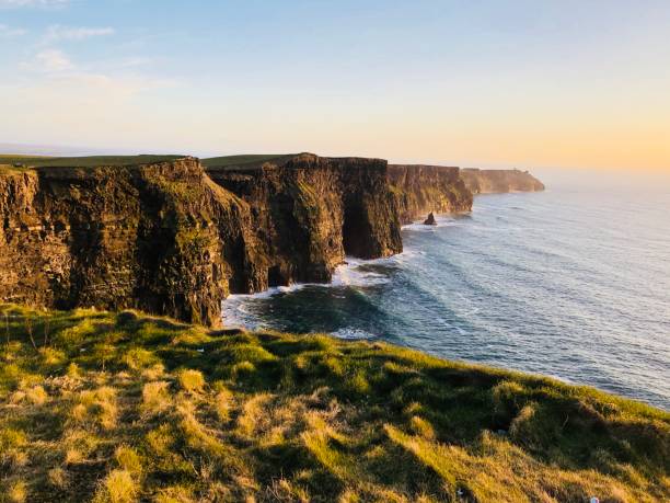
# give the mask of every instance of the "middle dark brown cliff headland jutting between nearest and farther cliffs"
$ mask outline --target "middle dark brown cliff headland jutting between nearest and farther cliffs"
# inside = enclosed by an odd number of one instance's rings
[[[205,163],[216,183],[251,207],[267,286],[328,282],[346,254],[377,259],[402,251],[385,161],[302,153]]]

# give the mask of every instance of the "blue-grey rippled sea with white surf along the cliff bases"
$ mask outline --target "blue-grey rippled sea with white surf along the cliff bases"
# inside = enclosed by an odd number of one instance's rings
[[[331,286],[224,302],[228,323],[379,339],[558,377],[670,410],[670,183],[540,172],[403,230],[405,252],[350,261]]]

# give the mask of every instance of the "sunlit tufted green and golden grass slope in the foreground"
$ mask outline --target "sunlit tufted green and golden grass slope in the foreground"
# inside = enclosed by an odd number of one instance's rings
[[[4,501],[662,501],[669,444],[650,407],[386,344],[0,307]]]

